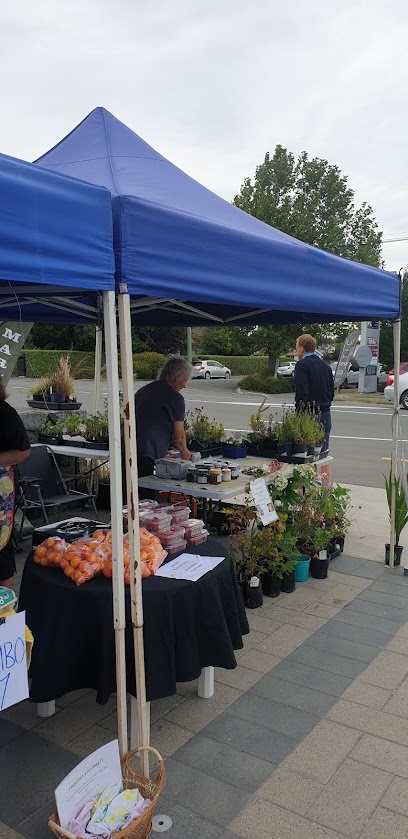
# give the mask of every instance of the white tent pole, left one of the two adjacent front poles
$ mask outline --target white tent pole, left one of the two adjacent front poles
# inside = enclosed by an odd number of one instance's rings
[[[113,625],[116,649],[116,693],[118,739],[121,755],[128,750],[125,658],[125,580],[123,575],[122,467],[120,442],[120,401],[118,338],[115,292],[103,292],[106,372],[108,380],[108,422],[110,459],[110,500],[112,527]]]

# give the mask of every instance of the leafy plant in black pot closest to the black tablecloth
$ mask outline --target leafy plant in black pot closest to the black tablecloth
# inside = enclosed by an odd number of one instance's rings
[[[265,567],[259,563],[256,510],[251,508],[249,498],[246,498],[245,505],[233,508],[229,512],[231,513],[229,521],[231,560],[245,606],[248,609],[257,609],[263,603],[260,578],[265,573]]]

